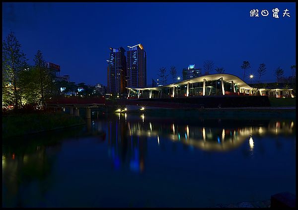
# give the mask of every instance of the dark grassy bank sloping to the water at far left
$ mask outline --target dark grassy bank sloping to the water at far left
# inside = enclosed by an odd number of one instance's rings
[[[84,124],[79,116],[66,113],[28,113],[2,116],[2,138],[27,135]]]

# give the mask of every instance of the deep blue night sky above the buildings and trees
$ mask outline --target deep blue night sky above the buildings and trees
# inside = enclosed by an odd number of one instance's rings
[[[295,3],[3,3],[2,39],[12,30],[29,63],[40,49],[44,58],[61,66],[71,81],[107,84],[109,47],[141,43],[147,52],[147,84],[160,67],[203,68],[212,60],[225,73],[243,77],[240,65],[248,60],[249,73],[274,80],[281,67],[285,76],[296,63]],[[272,9],[279,8],[279,18]],[[290,16],[283,17],[289,9]],[[259,9],[259,17],[250,17]],[[267,9],[268,16],[261,10]],[[215,73],[213,71],[212,73]],[[248,77],[248,76],[247,76]],[[247,79],[248,80],[248,79]],[[171,82],[171,79],[168,79]]]

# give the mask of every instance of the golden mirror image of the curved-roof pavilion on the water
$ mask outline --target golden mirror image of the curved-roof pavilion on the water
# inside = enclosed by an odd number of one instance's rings
[[[228,122],[225,122],[228,123]],[[264,122],[262,122],[264,123]],[[216,123],[213,123],[216,124]],[[156,137],[159,145],[160,138],[181,142],[185,145],[194,146],[206,151],[228,151],[240,146],[249,139],[249,144],[253,147],[252,135],[280,135],[294,134],[294,121],[273,121],[263,126],[236,126],[230,128],[219,128],[210,126],[197,126],[188,124],[168,124],[159,121],[153,122],[130,122],[130,132],[132,136]]]

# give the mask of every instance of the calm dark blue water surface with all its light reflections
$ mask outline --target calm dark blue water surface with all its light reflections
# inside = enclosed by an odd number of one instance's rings
[[[296,194],[295,120],[95,115],[2,143],[2,206],[214,207]]]

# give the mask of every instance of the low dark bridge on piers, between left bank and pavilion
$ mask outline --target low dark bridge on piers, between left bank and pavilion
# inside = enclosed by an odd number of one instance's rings
[[[90,108],[97,108],[105,105],[105,97],[56,97],[46,101],[48,108],[70,108],[70,114],[79,116],[79,108],[86,108],[86,118],[90,118]]]

